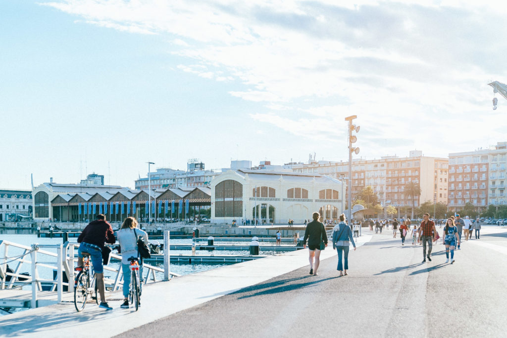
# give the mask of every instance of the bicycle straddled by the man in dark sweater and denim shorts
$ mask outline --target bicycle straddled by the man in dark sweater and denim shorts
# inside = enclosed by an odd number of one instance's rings
[[[74,280],[74,306],[78,312],[85,308],[88,296],[98,304],[97,283],[90,261],[90,254],[82,252],[82,255],[83,270],[78,273]]]

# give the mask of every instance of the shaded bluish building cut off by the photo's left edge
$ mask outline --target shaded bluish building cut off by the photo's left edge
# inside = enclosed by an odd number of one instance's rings
[[[30,190],[0,189],[0,222],[28,219],[32,210]]]

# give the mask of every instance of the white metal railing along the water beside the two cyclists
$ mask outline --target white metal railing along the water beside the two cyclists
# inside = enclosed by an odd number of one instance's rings
[[[164,231],[164,242],[167,242],[167,250],[164,250],[164,269],[144,263],[144,284],[149,282],[155,283],[159,280],[168,280],[169,278],[180,276],[176,273],[171,273],[169,270],[169,231]],[[20,255],[10,257],[9,249],[11,247],[21,249],[22,253]],[[50,291],[55,291],[56,289],[56,299],[57,302],[60,303],[62,301],[63,286],[67,286],[67,292],[74,292],[74,265],[77,261],[78,247],[78,243],[69,242],[65,242],[65,244],[32,244],[31,246],[26,246],[10,241],[0,240],[0,252],[3,251],[4,254],[3,257],[0,257],[0,290],[31,285],[30,307],[35,308],[38,305],[38,293],[43,290],[44,284],[45,287],[50,287]],[[56,254],[54,252],[42,250],[42,248],[56,249]],[[40,259],[42,255],[44,255],[44,260]],[[27,259],[27,256],[30,257],[29,260]],[[110,254],[110,257],[111,260],[117,260],[120,262],[122,259],[121,255],[113,253]],[[49,263],[47,262],[48,258],[51,260]],[[7,272],[7,265],[9,263],[17,263],[12,272]],[[20,273],[23,264],[30,265],[31,275],[27,276]],[[53,271],[56,271],[56,279],[40,278],[40,268],[50,269],[51,274]],[[110,288],[111,291],[116,291],[123,286],[123,272],[121,264],[119,264],[118,268],[104,265],[104,270],[112,272],[112,278],[104,280],[106,287]],[[157,272],[162,273],[164,277],[158,279]],[[67,280],[70,282],[63,281],[63,273],[65,273]],[[7,278],[9,276],[10,278]]]

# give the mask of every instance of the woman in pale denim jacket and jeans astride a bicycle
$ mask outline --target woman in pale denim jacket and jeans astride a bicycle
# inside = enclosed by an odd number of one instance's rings
[[[122,255],[122,272],[123,272],[123,304],[121,308],[128,309],[128,295],[130,292],[130,262],[129,258],[139,258],[137,251],[137,238],[141,236],[144,244],[148,245],[148,234],[143,230],[137,229],[137,221],[133,217],[127,217],[122,224],[121,229],[117,232],[118,242],[120,242]],[[142,285],[142,260],[139,260],[139,278]]]

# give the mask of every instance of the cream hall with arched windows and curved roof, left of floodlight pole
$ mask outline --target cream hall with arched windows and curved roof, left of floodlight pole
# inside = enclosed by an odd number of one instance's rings
[[[312,213],[337,219],[343,210],[341,182],[314,174],[246,170],[226,172],[211,182],[211,222],[258,218],[267,223],[303,223]]]

